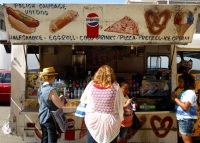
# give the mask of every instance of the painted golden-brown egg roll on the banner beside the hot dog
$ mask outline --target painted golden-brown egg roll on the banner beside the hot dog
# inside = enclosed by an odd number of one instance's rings
[[[55,33],[78,17],[78,12],[68,10],[49,24],[49,31]]]

